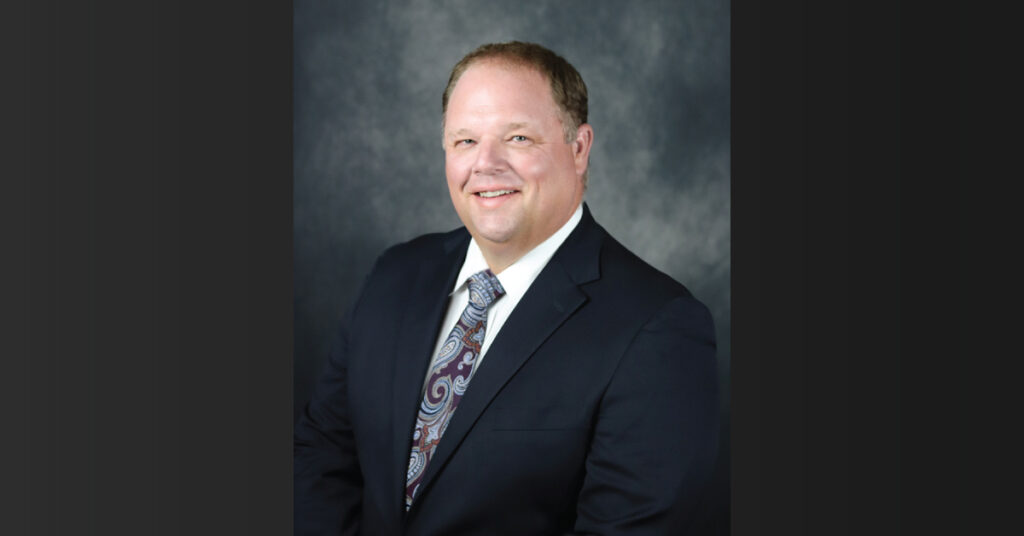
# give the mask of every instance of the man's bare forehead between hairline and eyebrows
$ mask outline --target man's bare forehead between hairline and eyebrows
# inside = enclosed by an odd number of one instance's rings
[[[551,84],[529,67],[499,60],[471,65],[452,91],[447,115],[499,112],[557,115]]]

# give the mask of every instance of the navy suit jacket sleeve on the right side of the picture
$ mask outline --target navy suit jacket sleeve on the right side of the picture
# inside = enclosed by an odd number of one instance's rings
[[[717,447],[714,326],[680,296],[634,336],[602,398],[577,532],[686,534]]]

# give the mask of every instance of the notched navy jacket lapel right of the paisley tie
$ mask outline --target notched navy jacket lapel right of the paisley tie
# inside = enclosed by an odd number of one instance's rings
[[[487,351],[427,465],[420,496],[430,491],[437,473],[505,383],[587,301],[579,285],[598,278],[602,238],[603,230],[584,205],[580,224],[530,285]],[[414,510],[418,503],[414,501]]]

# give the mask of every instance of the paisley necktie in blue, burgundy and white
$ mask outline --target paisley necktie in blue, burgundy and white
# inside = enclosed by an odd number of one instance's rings
[[[430,379],[420,403],[413,431],[413,448],[406,472],[406,509],[427,470],[427,463],[437,447],[449,420],[473,378],[474,365],[480,357],[483,332],[487,325],[487,307],[505,295],[505,289],[489,270],[470,276],[469,303],[444,339],[437,357],[430,365]]]

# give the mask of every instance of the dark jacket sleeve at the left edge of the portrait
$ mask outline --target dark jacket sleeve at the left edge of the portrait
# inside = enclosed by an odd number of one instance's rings
[[[346,325],[351,325],[351,316],[339,328],[313,395],[295,426],[295,536],[359,532],[362,473],[348,415]]]

